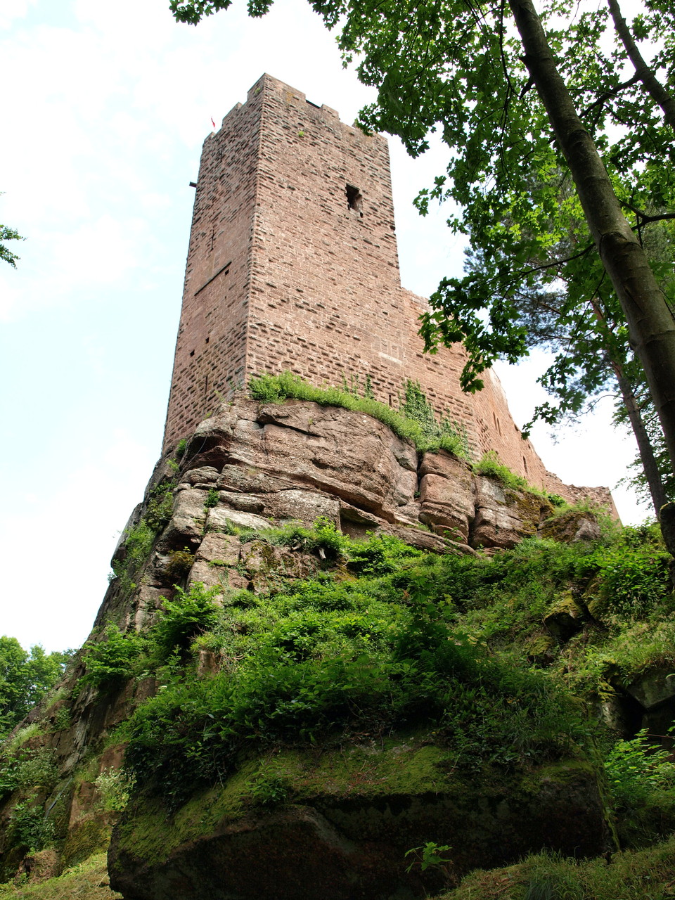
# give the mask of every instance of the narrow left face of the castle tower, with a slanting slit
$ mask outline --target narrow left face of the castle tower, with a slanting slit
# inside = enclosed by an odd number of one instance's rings
[[[260,105],[238,104],[202,149],[165,447],[246,379],[251,233]]]

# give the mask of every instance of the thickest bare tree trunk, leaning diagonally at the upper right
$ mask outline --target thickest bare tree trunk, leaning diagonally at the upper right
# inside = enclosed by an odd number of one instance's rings
[[[675,460],[675,321],[631,230],[590,134],[583,127],[548,46],[531,0],[509,0],[525,63],[545,105],[602,264],[626,316],[661,420],[671,465]]]

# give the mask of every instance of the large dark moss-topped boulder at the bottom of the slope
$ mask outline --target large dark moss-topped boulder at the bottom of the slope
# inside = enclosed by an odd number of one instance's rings
[[[111,886],[125,900],[401,900],[476,866],[552,848],[597,855],[608,833],[590,765],[563,761],[506,776],[462,775],[419,739],[321,754],[281,752],[267,775],[286,800],[256,805],[255,766],[195,795],[175,815],[148,798],[117,825]],[[406,857],[447,845],[422,872]]]

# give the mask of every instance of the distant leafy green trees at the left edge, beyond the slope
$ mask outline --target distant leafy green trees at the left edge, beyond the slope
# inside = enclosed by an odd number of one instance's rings
[[[0,637],[0,740],[54,687],[71,655],[25,651],[15,637]]]

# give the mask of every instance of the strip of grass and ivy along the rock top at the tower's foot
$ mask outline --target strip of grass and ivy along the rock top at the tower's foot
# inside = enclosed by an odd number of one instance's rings
[[[434,410],[417,382],[406,381],[400,410],[393,410],[386,403],[373,400],[368,396],[367,385],[365,396],[359,397],[351,385],[348,390],[317,388],[291,372],[254,375],[248,383],[248,390],[251,396],[264,403],[281,403],[288,399],[309,400],[320,406],[340,406],[345,410],[365,412],[388,425],[394,434],[408,438],[420,451],[443,449],[464,459],[470,456],[463,429],[447,416],[437,422]]]

